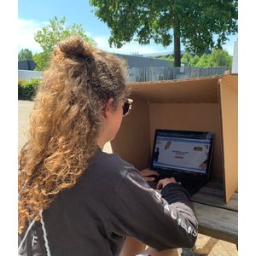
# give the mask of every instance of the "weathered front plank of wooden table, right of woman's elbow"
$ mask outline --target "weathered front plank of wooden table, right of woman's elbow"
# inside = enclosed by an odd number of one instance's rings
[[[201,234],[238,243],[238,212],[196,202],[193,205]]]

